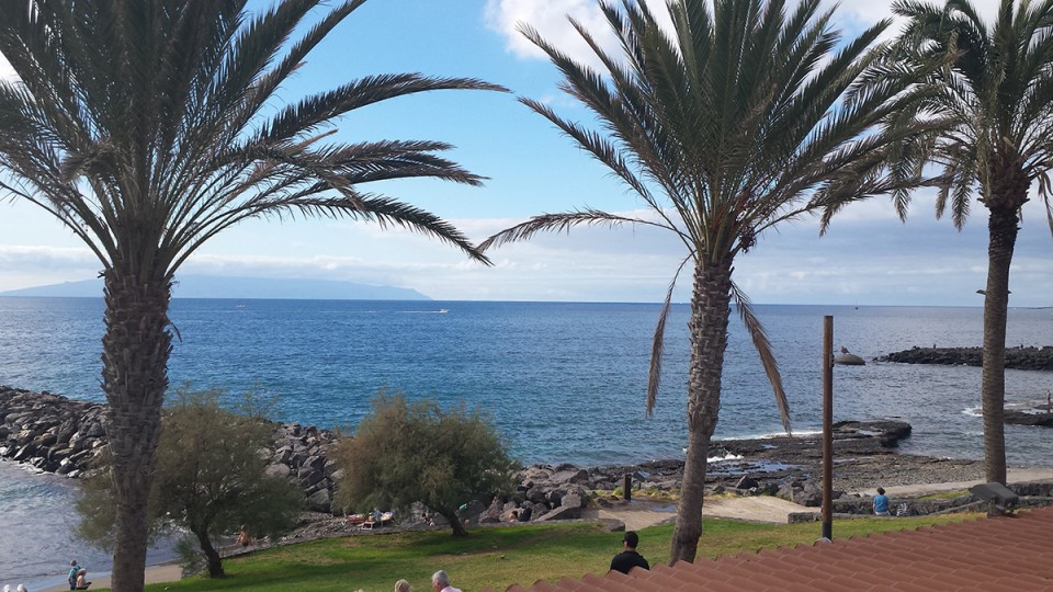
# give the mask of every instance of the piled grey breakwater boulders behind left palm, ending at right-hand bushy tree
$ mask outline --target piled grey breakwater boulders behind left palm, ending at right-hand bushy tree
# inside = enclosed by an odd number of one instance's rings
[[[0,386],[0,457],[76,478],[102,454],[106,406],[50,392]],[[268,471],[304,489],[307,506],[331,510],[337,467],[326,454],[335,436],[297,423],[275,423]]]

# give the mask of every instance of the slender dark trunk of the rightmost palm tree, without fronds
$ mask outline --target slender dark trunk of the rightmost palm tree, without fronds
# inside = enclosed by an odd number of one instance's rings
[[[1006,483],[1006,321],[1009,265],[1017,242],[1017,212],[993,207],[987,221],[987,289],[984,295],[984,459],[988,482]]]

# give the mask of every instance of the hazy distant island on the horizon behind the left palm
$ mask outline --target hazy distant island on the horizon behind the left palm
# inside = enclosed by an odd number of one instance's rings
[[[0,292],[0,296],[102,297],[102,278],[64,282]],[[172,287],[173,298],[234,298],[290,300],[431,300],[416,289],[371,286],[336,280],[291,280],[272,277],[220,277],[180,275]]]

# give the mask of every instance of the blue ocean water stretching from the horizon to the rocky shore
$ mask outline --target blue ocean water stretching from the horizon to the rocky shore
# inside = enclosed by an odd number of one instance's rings
[[[914,426],[902,449],[983,457],[981,369],[875,363],[920,346],[975,346],[982,309],[758,305],[782,372],[796,432],[822,412],[823,317],[835,348],[865,366],[837,366],[834,415],[898,418]],[[170,383],[275,398],[275,418],[353,429],[380,390],[464,403],[490,414],[523,463],[581,466],[682,457],[688,307],[667,326],[663,389],[654,417],[644,400],[654,304],[177,299]],[[103,303],[95,298],[0,298],[0,384],[104,400],[100,389]],[[729,327],[717,437],[778,433],[763,368],[737,318]],[[1048,308],[1009,311],[1007,345],[1049,345]],[[1045,401],[1053,373],[1007,371],[1007,405]],[[1012,466],[1053,467],[1053,437],[1007,425]],[[71,539],[76,490],[66,480],[0,463],[0,584],[43,581],[89,549]],[[41,515],[55,522],[39,527]],[[26,538],[38,545],[25,545]],[[89,569],[109,569],[104,555]],[[10,576],[10,577],[9,577]],[[60,579],[60,578],[59,578]],[[31,590],[34,588],[31,587]]]

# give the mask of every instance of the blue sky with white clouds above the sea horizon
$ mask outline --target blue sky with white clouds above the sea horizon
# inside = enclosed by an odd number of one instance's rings
[[[648,0],[652,1],[652,0]],[[837,24],[854,35],[891,15],[887,0],[845,0]],[[994,12],[994,0],[978,2]],[[473,241],[542,213],[592,207],[632,215],[644,204],[517,96],[571,121],[588,113],[558,88],[555,68],[517,31],[528,23],[588,60],[567,15],[605,33],[593,0],[370,0],[353,12],[282,89],[287,101],[374,73],[475,77],[511,93],[443,91],[396,99],[341,118],[344,141],[430,139],[488,180],[483,187],[434,180],[372,185],[430,210]],[[890,31],[894,33],[895,25]],[[601,36],[601,38],[603,38]],[[10,67],[0,61],[0,76]],[[905,224],[885,197],[854,204],[819,237],[818,221],[783,224],[736,259],[736,283],[758,304],[982,306],[986,209],[974,203],[959,232],[918,193]],[[261,219],[211,240],[186,274],[310,277],[417,289],[442,300],[660,301],[686,252],[647,228],[576,228],[540,235],[467,260],[435,239],[349,220]],[[1050,306],[1053,240],[1032,189],[1010,276],[1010,306]],[[0,291],[95,277],[101,264],[34,206],[0,196]],[[681,277],[675,300],[690,298]]]

